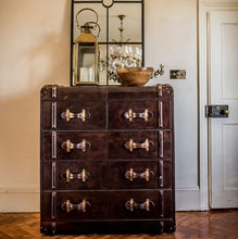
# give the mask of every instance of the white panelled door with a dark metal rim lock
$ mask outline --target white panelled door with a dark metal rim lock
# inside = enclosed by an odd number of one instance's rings
[[[210,13],[210,103],[228,104],[210,118],[211,207],[238,207],[238,11]]]

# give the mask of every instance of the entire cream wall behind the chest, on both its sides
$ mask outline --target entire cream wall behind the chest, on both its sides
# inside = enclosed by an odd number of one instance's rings
[[[0,211],[39,211],[39,90],[70,83],[70,0],[0,0]],[[197,1],[145,0],[150,84],[175,89],[176,207],[200,209]],[[185,68],[186,80],[170,80]]]

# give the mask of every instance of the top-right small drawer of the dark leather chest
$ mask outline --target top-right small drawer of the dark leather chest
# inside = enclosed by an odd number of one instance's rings
[[[172,128],[172,102],[109,101],[109,128]]]

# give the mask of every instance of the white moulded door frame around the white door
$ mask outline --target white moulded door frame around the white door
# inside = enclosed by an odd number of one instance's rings
[[[210,103],[210,12],[238,10],[238,1],[199,0],[199,143],[200,143],[200,206],[211,209],[211,136],[210,120],[205,117],[205,105]]]

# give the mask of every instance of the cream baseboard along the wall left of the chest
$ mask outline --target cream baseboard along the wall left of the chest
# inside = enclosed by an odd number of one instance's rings
[[[39,212],[40,190],[37,187],[0,187],[0,212]]]

